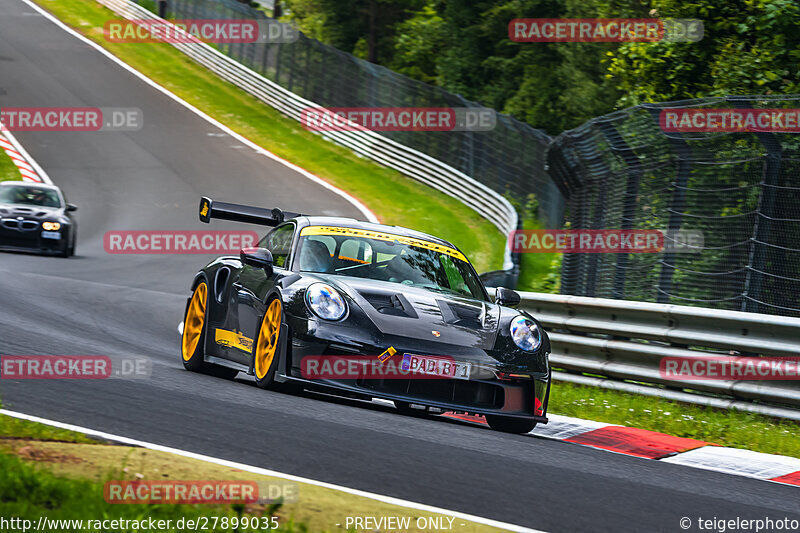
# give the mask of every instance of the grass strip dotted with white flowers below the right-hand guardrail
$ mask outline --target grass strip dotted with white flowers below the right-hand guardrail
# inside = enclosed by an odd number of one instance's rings
[[[658,431],[732,448],[800,457],[800,424],[556,381],[550,412]]]

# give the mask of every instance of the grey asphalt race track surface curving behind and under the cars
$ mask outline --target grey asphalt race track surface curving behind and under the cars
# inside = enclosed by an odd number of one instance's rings
[[[796,487],[186,372],[176,327],[210,257],[109,255],[106,231],[209,228],[197,221],[201,195],[361,215],[20,0],[0,3],[0,106],[144,113],[137,132],[17,134],[80,206],[80,232],[68,260],[0,254],[0,354],[152,362],[145,379],[4,379],[4,408],[548,531],[681,531],[684,516],[800,519]]]

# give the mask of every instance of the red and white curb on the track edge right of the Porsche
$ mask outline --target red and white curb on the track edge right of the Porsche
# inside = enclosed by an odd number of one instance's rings
[[[452,413],[443,416],[486,425],[482,416]],[[549,423],[536,426],[529,435],[664,463],[800,486],[800,459],[794,457],[726,448],[702,440],[569,416],[548,415],[548,418]]]

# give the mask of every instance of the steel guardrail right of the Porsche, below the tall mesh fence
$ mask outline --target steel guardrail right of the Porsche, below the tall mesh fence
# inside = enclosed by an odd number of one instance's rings
[[[800,319],[647,302],[520,293],[550,335],[554,378],[800,420],[800,381],[667,379],[662,357],[800,354]],[[592,374],[587,376],[584,374]],[[604,376],[598,378],[596,376]]]

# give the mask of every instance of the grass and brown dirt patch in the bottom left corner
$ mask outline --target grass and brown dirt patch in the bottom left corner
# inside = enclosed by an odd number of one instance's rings
[[[286,482],[164,452],[102,444],[84,435],[0,416],[0,516],[19,516],[34,522],[41,515],[84,520],[153,517],[172,519],[174,524],[181,517],[274,515],[284,531],[344,531],[347,516],[409,517],[412,524],[420,517],[439,516],[304,483],[297,484],[296,503],[279,507],[106,503],[106,481],[134,479]],[[447,519],[444,524],[448,524]],[[454,519],[452,526],[464,533],[499,531],[461,519]]]

